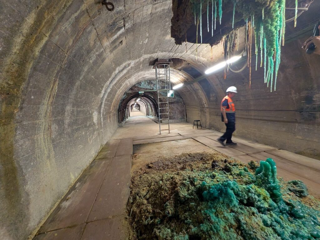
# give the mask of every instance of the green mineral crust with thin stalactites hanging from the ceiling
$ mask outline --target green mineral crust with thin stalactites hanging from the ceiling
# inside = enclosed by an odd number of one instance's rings
[[[217,7],[218,2],[218,7]],[[219,22],[222,20],[223,8],[232,9],[232,28],[235,25],[235,14],[240,13],[246,21],[248,29],[248,18],[251,19],[251,27],[254,28],[255,37],[255,54],[256,54],[256,70],[258,67],[258,53],[260,48],[260,67],[264,65],[264,79],[270,91],[276,90],[276,81],[281,61],[281,45],[284,45],[285,30],[285,0],[190,0],[192,11],[199,16],[200,20],[200,37],[202,43],[202,7],[207,4],[207,30],[209,32],[209,4],[211,4],[212,28],[211,36],[216,29],[217,13],[219,12]],[[233,6],[233,8],[231,7]],[[296,16],[297,17],[298,0],[296,0]],[[214,9],[214,11],[213,11]],[[237,19],[239,21],[239,19]],[[247,31],[252,33],[251,30]],[[253,33],[252,33],[253,34]],[[264,53],[264,58],[263,58]],[[264,63],[263,63],[264,62]],[[251,78],[251,77],[250,77]],[[250,79],[251,80],[251,79]]]

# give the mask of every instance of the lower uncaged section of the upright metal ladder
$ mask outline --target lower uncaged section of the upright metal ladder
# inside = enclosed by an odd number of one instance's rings
[[[159,132],[161,134],[161,131],[168,130],[168,133],[170,133],[168,90],[158,90],[157,92],[158,92]],[[165,96],[163,95],[163,93],[165,94]],[[164,123],[163,121],[167,121],[167,122]],[[168,128],[161,129],[161,126],[168,126]]]

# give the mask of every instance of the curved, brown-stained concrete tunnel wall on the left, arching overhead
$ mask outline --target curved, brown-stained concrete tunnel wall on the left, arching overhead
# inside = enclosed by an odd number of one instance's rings
[[[5,239],[32,234],[116,131],[125,90],[175,53],[171,1],[114,4],[1,1]]]

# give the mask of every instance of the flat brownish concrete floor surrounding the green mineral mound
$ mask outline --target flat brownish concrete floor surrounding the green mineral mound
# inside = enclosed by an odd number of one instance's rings
[[[125,206],[130,193],[130,172],[161,156],[185,152],[221,152],[244,163],[276,161],[284,180],[300,179],[309,193],[320,198],[320,161],[271,146],[234,137],[236,147],[222,147],[220,132],[192,129],[192,124],[170,124],[159,135],[159,125],[132,112],[124,127],[101,149],[92,164],[62,199],[34,240],[126,239]]]

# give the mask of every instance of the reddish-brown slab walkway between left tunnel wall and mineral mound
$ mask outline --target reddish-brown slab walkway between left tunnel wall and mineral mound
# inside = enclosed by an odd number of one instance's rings
[[[110,140],[34,240],[125,239],[132,138]]]

